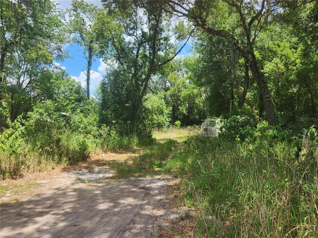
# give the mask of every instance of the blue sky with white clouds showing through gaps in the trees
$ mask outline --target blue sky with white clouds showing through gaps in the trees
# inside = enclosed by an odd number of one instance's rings
[[[70,0],[56,0],[58,3],[58,7],[66,10],[67,8],[71,8],[72,1]],[[101,2],[99,0],[90,0],[88,3],[96,4],[98,7],[101,7]],[[180,56],[188,56],[189,50],[191,50],[191,43],[188,43],[184,46],[182,51],[180,52]],[[65,45],[65,49],[68,50],[68,54],[70,58],[64,60],[64,62],[58,62],[63,68],[65,68],[66,72],[68,72],[72,78],[76,81],[81,82],[82,86],[86,85],[86,59],[83,56],[83,48],[75,43]],[[103,78],[105,71],[107,70],[107,63],[102,62],[100,58],[94,58],[91,68],[91,86],[90,93],[93,95],[100,80]]]

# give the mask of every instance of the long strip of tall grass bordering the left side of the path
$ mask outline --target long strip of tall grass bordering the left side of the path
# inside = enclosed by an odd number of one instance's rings
[[[153,140],[140,140],[136,136],[117,135],[94,138],[65,131],[60,135],[30,135],[22,145],[22,153],[12,155],[4,151],[0,159],[3,178],[21,175],[26,171],[54,168],[60,164],[74,164],[86,160],[99,151],[118,151],[133,148]]]

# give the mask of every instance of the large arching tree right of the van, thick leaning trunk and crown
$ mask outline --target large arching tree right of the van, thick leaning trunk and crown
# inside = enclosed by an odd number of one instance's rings
[[[170,12],[178,17],[187,17],[195,26],[213,36],[219,36],[231,43],[237,52],[248,60],[252,76],[259,86],[264,100],[266,116],[269,125],[276,122],[273,101],[268,86],[259,69],[255,55],[255,41],[258,34],[268,23],[268,19],[277,9],[275,1],[262,0],[258,6],[256,2],[245,1],[165,1]],[[214,17],[214,12],[222,12]],[[221,17],[220,17],[221,16]],[[229,31],[224,28],[226,17],[237,20],[237,30]]]

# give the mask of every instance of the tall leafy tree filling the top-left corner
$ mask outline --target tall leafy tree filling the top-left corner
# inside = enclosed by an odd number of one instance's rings
[[[51,1],[0,1],[0,107],[6,85],[6,59],[28,44],[61,39],[61,12]],[[60,32],[59,32],[60,33]]]

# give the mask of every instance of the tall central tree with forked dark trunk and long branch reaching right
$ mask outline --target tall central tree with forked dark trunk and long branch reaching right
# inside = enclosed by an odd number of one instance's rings
[[[114,16],[123,28],[119,37],[112,35],[112,57],[132,78],[134,98],[131,103],[131,127],[135,129],[136,117],[148,89],[149,79],[161,66],[169,63],[183,49],[170,42],[170,14],[165,5],[155,1],[103,1],[105,6],[118,9]],[[183,29],[184,30],[184,29]],[[177,32],[173,35],[178,34]]]

